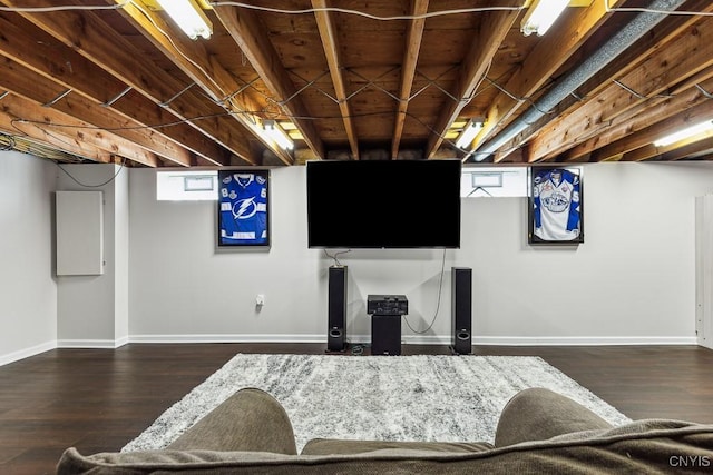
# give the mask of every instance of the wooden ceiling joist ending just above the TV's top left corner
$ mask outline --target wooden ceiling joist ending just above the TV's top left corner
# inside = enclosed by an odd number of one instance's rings
[[[309,120],[302,119],[311,115],[302,98],[299,96],[294,82],[290,79],[287,71],[282,66],[282,61],[255,12],[248,9],[225,6],[215,6],[214,12],[228,34],[238,44],[275,100],[287,112],[290,119],[302,133],[307,147],[310,147],[318,157],[324,158],[324,144],[318,135],[314,125]]]

